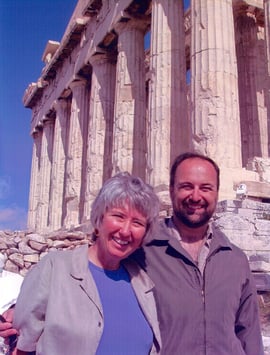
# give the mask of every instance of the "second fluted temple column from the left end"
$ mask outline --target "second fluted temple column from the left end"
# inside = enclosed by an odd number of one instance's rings
[[[54,119],[46,117],[43,121],[41,142],[40,189],[37,208],[36,227],[39,232],[48,228],[51,168],[53,152]]]

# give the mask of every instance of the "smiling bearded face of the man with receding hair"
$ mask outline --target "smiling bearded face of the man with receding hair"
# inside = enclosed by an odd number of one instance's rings
[[[170,187],[174,218],[190,228],[208,223],[217,200],[217,173],[211,163],[200,158],[184,160],[176,169]]]

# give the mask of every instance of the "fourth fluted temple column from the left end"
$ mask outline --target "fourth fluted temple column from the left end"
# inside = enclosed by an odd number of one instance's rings
[[[70,228],[78,225],[82,216],[82,195],[86,128],[88,121],[89,91],[84,80],[70,84],[72,90],[70,127],[68,135],[68,156],[64,198],[64,225]]]

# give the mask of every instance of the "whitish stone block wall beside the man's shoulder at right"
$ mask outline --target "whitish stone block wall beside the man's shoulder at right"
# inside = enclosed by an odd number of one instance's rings
[[[270,204],[224,200],[218,203],[215,222],[246,253],[258,290],[270,291]]]

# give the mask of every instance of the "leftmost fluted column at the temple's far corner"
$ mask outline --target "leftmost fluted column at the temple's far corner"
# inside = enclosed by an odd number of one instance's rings
[[[32,166],[31,180],[29,192],[29,207],[27,227],[29,230],[36,229],[37,206],[39,201],[40,190],[40,160],[41,160],[41,139],[42,131],[36,130],[33,133],[33,151],[32,151]]]

